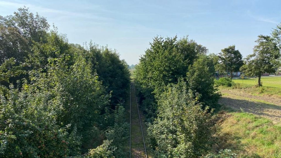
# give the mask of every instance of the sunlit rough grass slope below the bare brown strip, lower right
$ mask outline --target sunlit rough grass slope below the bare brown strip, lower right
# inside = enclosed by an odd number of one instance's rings
[[[230,149],[239,157],[281,155],[281,125],[246,112],[229,112],[218,126],[213,150]]]

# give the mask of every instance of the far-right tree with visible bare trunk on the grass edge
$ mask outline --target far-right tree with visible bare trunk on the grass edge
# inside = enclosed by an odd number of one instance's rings
[[[280,52],[270,36],[259,35],[255,42],[257,45],[253,48],[254,53],[245,58],[245,64],[240,70],[248,76],[258,77],[258,86],[261,86],[261,74],[275,72]]]

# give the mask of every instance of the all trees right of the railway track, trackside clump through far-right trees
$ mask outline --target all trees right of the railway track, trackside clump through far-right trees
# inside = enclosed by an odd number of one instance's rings
[[[259,35],[244,59],[235,45],[216,55],[188,37],[155,37],[134,72],[155,157],[220,157],[208,154],[215,142],[213,112],[220,109],[215,73],[229,71],[231,78],[240,70],[261,86],[261,74],[280,67],[280,34],[281,24],[272,36]]]

